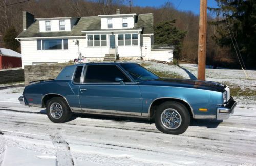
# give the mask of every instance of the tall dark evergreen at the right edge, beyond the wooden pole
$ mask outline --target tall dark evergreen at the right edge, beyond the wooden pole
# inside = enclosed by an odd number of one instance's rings
[[[242,59],[246,67],[256,67],[256,1],[255,0],[216,0],[219,8],[208,8],[221,16],[221,20],[212,22],[217,26],[214,39],[222,47],[233,48],[236,52],[228,31],[229,27],[233,41],[238,43]],[[234,45],[236,45],[234,41]],[[239,51],[238,51],[239,53]],[[242,61],[240,59],[240,61]]]

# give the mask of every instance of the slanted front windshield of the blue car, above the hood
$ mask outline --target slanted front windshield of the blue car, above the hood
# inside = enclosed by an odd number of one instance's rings
[[[121,66],[133,77],[136,82],[159,78],[157,75],[138,64],[121,64]]]

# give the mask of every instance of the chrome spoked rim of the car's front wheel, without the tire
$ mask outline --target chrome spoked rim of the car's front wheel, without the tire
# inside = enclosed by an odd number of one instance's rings
[[[181,125],[180,113],[175,109],[165,109],[161,114],[161,122],[164,127],[174,130]]]

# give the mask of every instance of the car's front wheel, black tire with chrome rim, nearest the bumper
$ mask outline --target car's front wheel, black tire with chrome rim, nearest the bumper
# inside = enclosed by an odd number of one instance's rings
[[[166,101],[158,106],[155,114],[155,124],[159,131],[166,134],[182,134],[190,124],[187,108],[176,101]]]

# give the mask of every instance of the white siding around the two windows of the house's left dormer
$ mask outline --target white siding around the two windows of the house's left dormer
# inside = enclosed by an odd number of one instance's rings
[[[70,19],[60,19],[64,20],[65,23],[65,31],[71,31],[71,26],[74,25],[75,21],[72,21]],[[59,30],[59,21],[60,20],[47,20],[51,21],[51,31],[60,31]],[[39,28],[40,32],[45,32],[46,31],[46,20],[39,20]],[[63,31],[63,30],[61,30]]]

